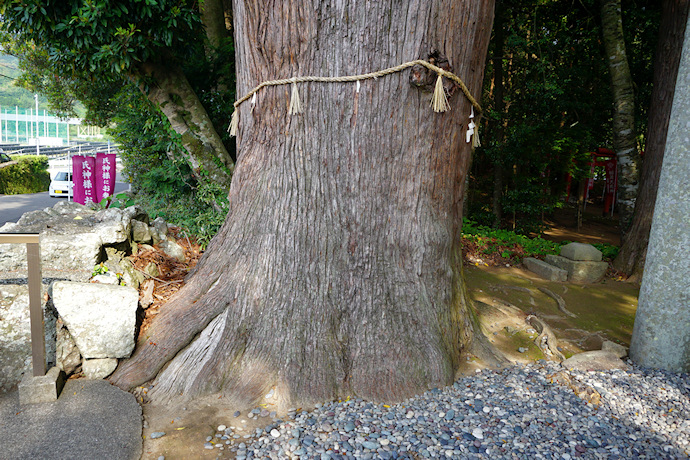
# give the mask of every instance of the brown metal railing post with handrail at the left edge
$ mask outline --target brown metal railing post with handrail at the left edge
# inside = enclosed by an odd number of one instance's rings
[[[38,233],[0,233],[0,243],[26,244],[29,266],[29,315],[31,318],[31,361],[34,377],[46,374],[46,345],[41,308],[41,248]]]

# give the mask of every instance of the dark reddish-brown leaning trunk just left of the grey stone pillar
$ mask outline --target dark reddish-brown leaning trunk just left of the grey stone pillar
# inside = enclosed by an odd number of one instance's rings
[[[649,230],[664,159],[666,133],[683,49],[688,5],[688,0],[666,0],[661,5],[652,104],[649,109],[647,142],[640,173],[640,190],[635,201],[635,214],[630,230],[625,234],[621,250],[613,262],[614,268],[630,276],[632,281],[642,278],[647,256]]]

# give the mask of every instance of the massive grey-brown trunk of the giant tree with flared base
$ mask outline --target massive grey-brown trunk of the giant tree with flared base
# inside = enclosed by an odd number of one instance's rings
[[[233,14],[238,94],[433,55],[479,95],[493,2],[237,0]],[[473,334],[460,215],[470,104],[446,82],[451,110],[432,112],[433,85],[417,74],[362,81],[359,92],[300,84],[301,115],[287,115],[290,86],[240,107],[227,220],[115,384],[167,364],[155,400],[251,403],[275,388],[298,407],[400,400],[453,381]]]

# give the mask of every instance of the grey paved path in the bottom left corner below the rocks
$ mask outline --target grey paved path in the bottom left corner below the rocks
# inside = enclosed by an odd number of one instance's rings
[[[136,460],[141,406],[104,380],[68,380],[54,403],[19,405],[0,395],[0,459]]]

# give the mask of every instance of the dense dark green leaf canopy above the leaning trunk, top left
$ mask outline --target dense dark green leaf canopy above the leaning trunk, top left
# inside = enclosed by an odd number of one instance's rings
[[[189,0],[9,0],[0,14],[6,32],[40,44],[63,74],[127,74],[201,27]]]

